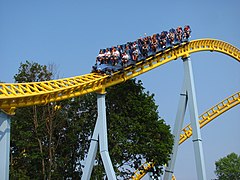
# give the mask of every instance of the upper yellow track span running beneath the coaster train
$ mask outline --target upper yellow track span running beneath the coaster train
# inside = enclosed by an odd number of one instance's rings
[[[116,72],[111,77],[96,73],[32,83],[0,83],[0,109],[14,114],[17,107],[46,104],[54,101],[102,91],[139,76],[158,66],[179,57],[187,57],[199,51],[216,51],[227,54],[240,62],[240,50],[229,43],[214,39],[193,40],[159,52],[146,60],[138,62],[135,67],[128,67],[123,73]]]

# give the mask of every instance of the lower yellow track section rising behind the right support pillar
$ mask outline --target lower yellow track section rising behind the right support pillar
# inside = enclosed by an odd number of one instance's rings
[[[240,104],[240,91],[227,97],[220,103],[216,104],[215,106],[211,107],[203,114],[199,116],[199,125],[200,128],[204,127],[212,120],[223,114],[224,112],[228,111],[229,109],[235,107],[236,105]],[[192,128],[191,124],[188,124],[182,129],[182,133],[180,134],[179,145],[186,141],[188,138],[192,136]],[[149,171],[150,168],[154,167],[153,162],[145,162],[138,168],[134,175],[131,177],[132,180],[139,180],[143,178],[146,173]],[[173,176],[172,180],[176,178]]]

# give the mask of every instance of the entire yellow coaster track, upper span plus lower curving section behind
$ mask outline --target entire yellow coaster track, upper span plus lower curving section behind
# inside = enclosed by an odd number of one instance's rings
[[[44,105],[50,102],[61,101],[91,92],[104,93],[105,89],[128,79],[137,77],[163,64],[186,58],[190,54],[200,51],[215,51],[226,54],[240,62],[240,50],[233,45],[215,39],[199,39],[184,42],[168,48],[163,52],[141,60],[135,66],[129,66],[123,72],[113,75],[91,73],[71,78],[30,83],[0,83],[0,109],[6,114],[13,115],[18,107]],[[240,103],[240,92],[226,98],[199,116],[200,128],[213,119]],[[183,128],[179,144],[192,136],[191,125]],[[141,179],[154,162],[144,163],[131,179]],[[173,176],[172,179],[175,179]]]

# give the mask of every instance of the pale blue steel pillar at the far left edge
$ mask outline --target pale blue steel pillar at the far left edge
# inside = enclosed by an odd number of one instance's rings
[[[9,179],[10,116],[0,111],[0,175]]]

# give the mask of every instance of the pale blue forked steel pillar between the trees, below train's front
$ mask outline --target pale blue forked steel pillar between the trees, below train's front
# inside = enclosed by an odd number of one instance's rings
[[[91,139],[85,167],[83,169],[82,180],[90,179],[94,165],[94,160],[97,153],[98,143],[100,146],[100,155],[103,161],[107,177],[108,179],[116,180],[116,175],[108,152],[105,93],[98,94],[97,104],[98,104],[98,118]]]

